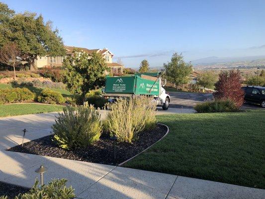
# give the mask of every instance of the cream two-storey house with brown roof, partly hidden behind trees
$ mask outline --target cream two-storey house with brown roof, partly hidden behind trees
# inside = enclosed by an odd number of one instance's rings
[[[87,52],[88,55],[92,54],[92,52],[100,53],[105,59],[107,67],[111,68],[113,74],[123,73],[124,66],[116,62],[112,62],[112,57],[114,56],[114,54],[111,53],[107,48],[87,49],[87,48],[79,48],[79,47],[74,47],[74,46],[65,46],[66,54],[67,54],[66,56],[72,56],[74,48],[81,49],[82,51]],[[62,67],[63,61],[66,58],[66,56],[57,56],[57,57],[37,56],[37,59],[35,60],[35,67],[36,68]]]

